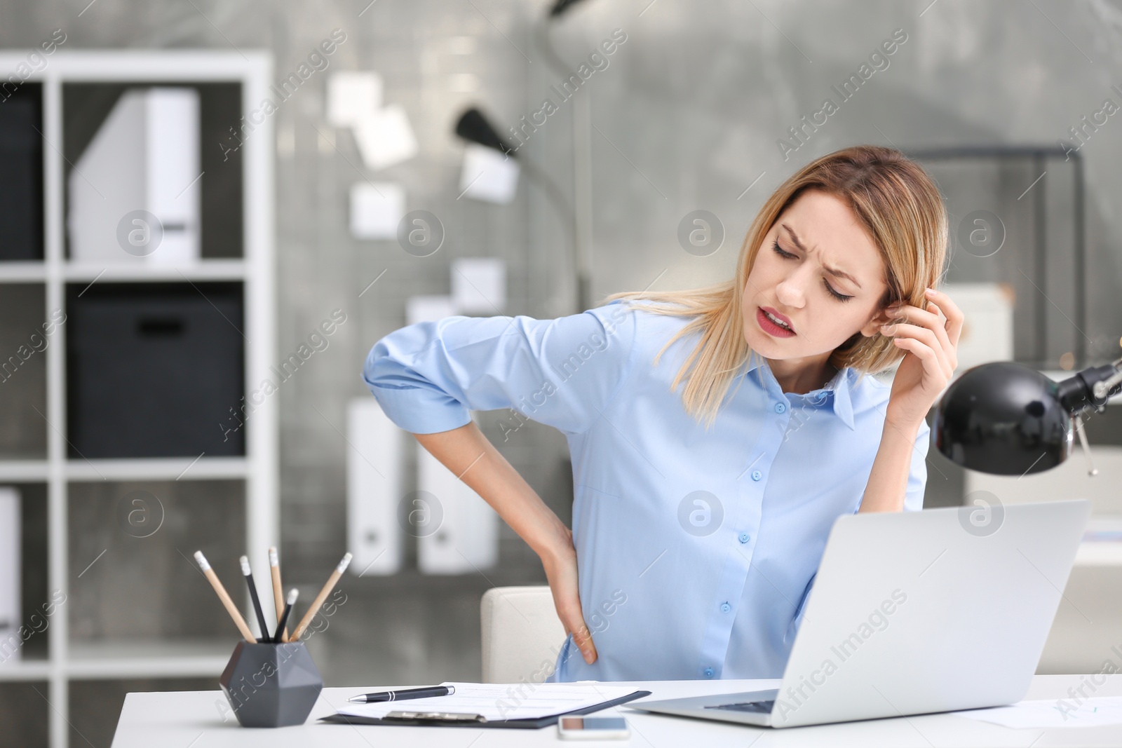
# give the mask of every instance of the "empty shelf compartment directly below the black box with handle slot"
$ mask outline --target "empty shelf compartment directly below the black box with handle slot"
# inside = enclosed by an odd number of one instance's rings
[[[74,482],[67,508],[65,613],[72,653],[134,639],[168,647],[183,639],[221,639],[232,650],[237,629],[192,556],[196,550],[206,554],[245,608],[238,565],[246,552],[243,481]],[[260,574],[267,561],[254,558]]]

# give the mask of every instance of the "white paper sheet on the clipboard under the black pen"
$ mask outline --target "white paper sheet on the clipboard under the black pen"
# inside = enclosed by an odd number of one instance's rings
[[[599,683],[441,683],[456,693],[430,699],[350,704],[340,714],[383,718],[389,712],[481,714],[487,721],[539,719],[613,701],[635,689]],[[355,694],[358,695],[358,694]]]

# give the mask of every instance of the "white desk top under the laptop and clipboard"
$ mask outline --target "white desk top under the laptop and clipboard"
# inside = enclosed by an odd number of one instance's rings
[[[1107,683],[1097,689],[1096,696],[1122,695],[1122,675],[1107,676]],[[776,687],[778,681],[652,681],[629,683],[636,690],[653,692],[651,699],[702,695],[706,693],[734,693],[755,689]],[[625,684],[614,684],[625,685]],[[1067,695],[1069,686],[1079,685],[1078,675],[1038,675],[1027,699],[1059,699]],[[392,686],[388,686],[392,687]],[[275,730],[239,727],[221,691],[180,691],[165,693],[130,693],[117,724],[113,748],[151,748],[180,746],[191,748],[295,748],[324,746],[331,748],[388,748],[390,746],[456,746],[484,748],[486,746],[580,746],[582,742],[557,737],[557,728],[542,730],[485,730],[479,728],[438,727],[355,727],[316,722],[346,703],[347,696],[380,686],[361,689],[324,689],[307,722],[300,727]],[[1088,694],[1089,695],[1089,694]],[[631,742],[622,740],[583,744],[597,746],[737,746],[765,748],[767,746],[859,746],[875,748],[932,748],[962,746],[981,748],[1009,746],[1045,748],[1046,746],[1120,746],[1122,724],[1103,728],[1067,728],[1061,730],[1011,730],[988,722],[978,722],[950,714],[929,714],[907,719],[868,720],[819,727],[771,730],[723,722],[679,719],[634,712],[616,708],[632,728]],[[222,714],[227,714],[223,722]],[[1046,733],[1047,732],[1047,733]],[[1046,733],[1046,735],[1045,735]]]

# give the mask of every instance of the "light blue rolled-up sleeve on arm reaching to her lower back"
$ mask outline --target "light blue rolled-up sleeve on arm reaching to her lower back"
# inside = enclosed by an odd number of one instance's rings
[[[499,408],[580,433],[633,366],[635,325],[623,299],[555,320],[421,322],[375,343],[362,379],[389,419],[414,434],[458,428],[470,410]]]

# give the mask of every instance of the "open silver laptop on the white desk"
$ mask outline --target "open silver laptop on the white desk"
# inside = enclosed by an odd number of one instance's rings
[[[846,515],[778,690],[627,704],[773,728],[1024,698],[1091,502]]]

